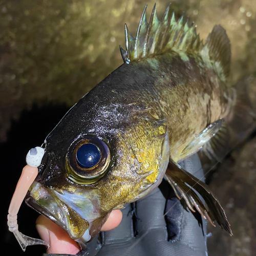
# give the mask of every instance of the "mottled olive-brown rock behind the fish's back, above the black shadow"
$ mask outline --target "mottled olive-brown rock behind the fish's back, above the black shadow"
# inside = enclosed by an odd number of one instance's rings
[[[140,15],[155,0],[0,2],[0,141],[10,120],[33,103],[73,105],[121,65],[124,23],[135,35]],[[161,17],[169,1],[157,3]],[[232,46],[231,82],[256,67],[254,0],[176,0],[176,17],[184,12],[205,39],[216,24]]]

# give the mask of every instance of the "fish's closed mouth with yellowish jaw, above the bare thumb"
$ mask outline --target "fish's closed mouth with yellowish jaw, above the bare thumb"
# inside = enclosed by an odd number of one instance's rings
[[[46,216],[66,230],[71,239],[84,238],[84,242],[91,239],[90,235],[88,236],[89,222],[65,202],[59,200],[53,189],[45,188],[39,182],[34,181],[27,193],[25,202],[39,214]]]

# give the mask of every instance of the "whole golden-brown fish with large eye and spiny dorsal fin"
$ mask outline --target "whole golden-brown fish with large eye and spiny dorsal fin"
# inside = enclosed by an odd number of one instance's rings
[[[231,50],[216,25],[205,44],[167,7],[146,7],[136,37],[125,25],[124,63],[84,95],[47,136],[25,202],[80,244],[110,212],[153,191],[165,177],[190,211],[232,234],[210,188],[179,162],[202,151],[221,159],[252,130],[246,83],[229,86]],[[240,89],[239,89],[240,88]]]

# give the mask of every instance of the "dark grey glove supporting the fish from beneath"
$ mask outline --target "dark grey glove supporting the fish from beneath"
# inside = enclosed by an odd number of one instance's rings
[[[197,154],[180,165],[197,178],[203,177]],[[203,235],[203,232],[206,234],[206,222],[197,212],[196,219],[181,203],[167,181],[163,181],[145,198],[125,205],[121,224],[111,231],[101,232],[88,244],[88,250],[79,255],[207,255],[206,236]],[[203,224],[203,230],[199,223]]]

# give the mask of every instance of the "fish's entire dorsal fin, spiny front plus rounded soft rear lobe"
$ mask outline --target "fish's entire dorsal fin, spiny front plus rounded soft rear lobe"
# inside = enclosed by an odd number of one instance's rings
[[[183,16],[176,22],[175,14],[169,10],[169,6],[160,22],[155,4],[149,23],[146,21],[146,7],[136,38],[131,35],[125,24],[126,50],[120,47],[125,63],[170,51],[200,54],[203,60],[214,68],[220,79],[226,80],[230,70],[231,51],[225,29],[216,25],[203,45],[196,28],[189,26],[188,21],[184,23]]]

